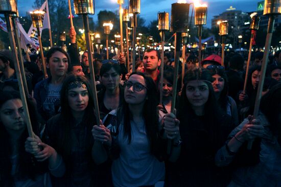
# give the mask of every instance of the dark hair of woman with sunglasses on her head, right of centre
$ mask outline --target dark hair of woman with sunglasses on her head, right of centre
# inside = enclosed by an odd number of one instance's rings
[[[221,91],[220,97],[218,99],[218,103],[221,106],[221,108],[226,111],[227,108],[227,103],[228,103],[228,78],[225,74],[225,71],[223,69],[210,69],[210,74],[213,76],[215,74],[220,75],[224,79],[224,87],[223,90]],[[213,82],[213,81],[212,81]]]

